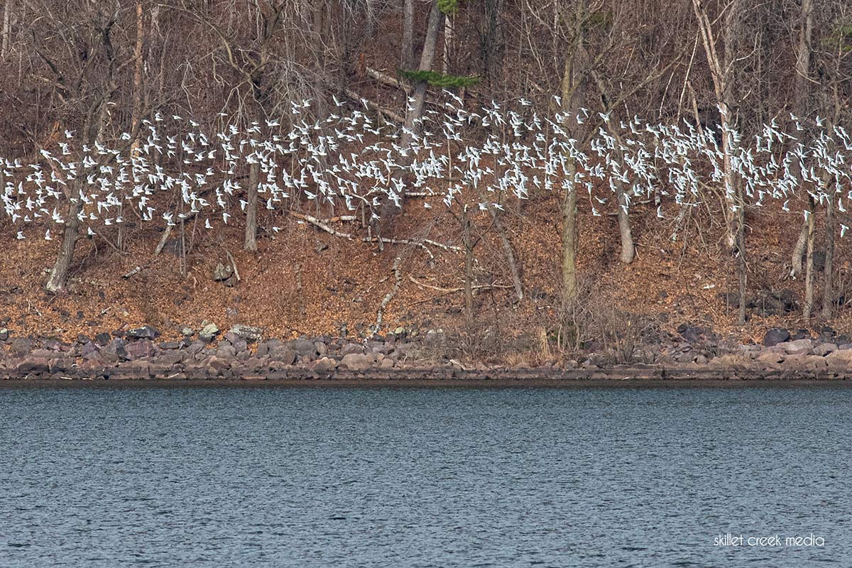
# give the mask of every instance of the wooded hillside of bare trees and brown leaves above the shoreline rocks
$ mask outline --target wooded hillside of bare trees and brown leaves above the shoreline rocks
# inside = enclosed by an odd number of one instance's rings
[[[852,330],[843,0],[0,6],[0,328]]]

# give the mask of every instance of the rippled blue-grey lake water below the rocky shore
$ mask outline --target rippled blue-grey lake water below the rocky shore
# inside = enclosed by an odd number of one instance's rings
[[[0,566],[849,566],[850,416],[816,385],[0,388]]]

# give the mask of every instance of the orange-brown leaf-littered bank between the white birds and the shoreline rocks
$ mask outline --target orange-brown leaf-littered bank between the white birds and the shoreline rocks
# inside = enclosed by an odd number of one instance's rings
[[[446,214],[438,198],[432,199],[431,209],[423,208],[422,198],[411,199],[406,213],[398,216],[394,236],[460,244],[458,221]],[[613,307],[620,313],[611,314],[614,318],[638,314],[636,321],[654,332],[676,334],[679,324],[690,323],[742,342],[760,341],[773,327],[818,331],[823,326],[817,320],[799,320],[796,303],[803,297],[803,286],[786,277],[799,215],[780,209],[750,215],[749,290],[755,306],[749,310],[749,322],[737,326],[735,310],[724,298],[724,292],[734,290],[733,266],[720,252],[718,228],[706,228],[712,224],[701,209],[695,209],[696,218],[678,221],[673,208],[671,216],[659,220],[643,210],[650,207],[636,207],[633,213],[638,253],[636,261],[625,266],[618,261],[615,217],[593,217],[590,205],[581,200],[579,272],[593,291],[584,296],[585,304]],[[131,227],[124,253],[101,238],[86,239],[78,246],[71,286],[61,295],[42,288],[57,241],[43,240],[43,227],[24,228],[24,240],[14,239],[17,227],[2,227],[7,244],[0,259],[0,328],[7,328],[11,336],[70,341],[81,334],[94,337],[101,331],[150,324],[165,339],[176,339],[181,328],[198,330],[209,321],[222,329],[255,325],[264,336],[283,339],[366,336],[380,304],[394,289],[394,258],[399,256],[399,288],[384,310],[381,333],[398,327],[421,333],[461,330],[470,340],[463,347],[475,355],[478,344],[470,336],[491,328],[501,338],[522,339],[494,343],[490,353],[483,349],[491,359],[502,357],[512,363],[559,358],[553,343],[560,330],[557,196],[539,195],[505,217],[525,289],[525,298],[518,303],[512,301],[509,270],[490,217],[477,217],[485,238],[475,250],[475,284],[481,288],[474,330],[463,318],[463,254],[432,245],[427,245],[429,252],[414,245],[388,245],[379,251],[375,244],[333,236],[295,216],[276,215],[262,219],[262,225],[281,230],[264,232],[256,253],[241,250],[242,227],[237,224],[224,232],[205,231],[202,224],[187,227],[192,247],[185,278],[176,239],[154,255],[163,230],[156,224]],[[360,234],[358,227],[334,227]],[[673,241],[675,227],[678,238]],[[836,266],[843,286],[849,255],[843,242],[838,249]],[[215,281],[212,275],[219,263],[230,267],[228,254],[233,255],[239,281],[235,277]],[[785,305],[793,311],[785,312]],[[829,323],[845,330],[848,319],[840,310]],[[551,340],[546,348],[544,336]],[[648,341],[653,337],[650,334]]]

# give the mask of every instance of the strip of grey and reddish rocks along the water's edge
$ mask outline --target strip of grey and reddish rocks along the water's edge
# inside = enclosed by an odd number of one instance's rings
[[[0,330],[4,381],[210,382],[523,382],[631,380],[832,380],[852,378],[852,342],[823,332],[769,330],[761,345],[720,340],[711,330],[681,326],[637,347],[630,362],[594,351],[581,360],[535,366],[463,364],[441,356],[440,330],[405,330],[355,340],[320,336],[284,341],[262,330],[215,324],[185,328],[179,341],[158,341],[150,326],[77,341],[14,336]],[[446,352],[445,352],[446,353]]]

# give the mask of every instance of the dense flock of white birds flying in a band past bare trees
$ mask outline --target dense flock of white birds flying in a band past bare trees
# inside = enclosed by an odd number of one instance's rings
[[[308,118],[315,117],[309,100],[291,103],[289,116],[243,128],[220,113],[218,132],[157,112],[141,122],[136,144],[117,133],[112,142],[87,145],[66,130],[37,158],[0,158],[0,210],[17,238],[35,223],[44,238],[55,238],[74,212],[89,235],[131,215],[170,226],[198,218],[211,229],[245,211],[251,164],[259,164],[261,207],[284,209],[288,199],[300,199],[328,217],[363,207],[373,220],[382,204],[400,205],[406,193],[427,197],[426,208],[440,201],[453,207],[463,196],[487,210],[536,192],[578,191],[588,196],[583,207],[592,215],[607,203],[627,212],[655,198],[659,217],[714,194],[733,210],[774,199],[790,211],[790,201],[807,193],[843,212],[844,200],[852,200],[852,138],[820,117],[776,118],[746,138],[686,120],[648,123],[586,109],[541,113],[523,99],[475,112],[452,93],[440,100],[417,132],[373,115],[366,101],[362,108],[337,99],[320,119]],[[653,215],[653,207],[647,210]]]

